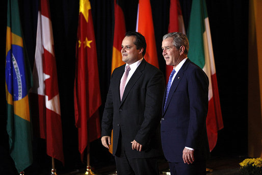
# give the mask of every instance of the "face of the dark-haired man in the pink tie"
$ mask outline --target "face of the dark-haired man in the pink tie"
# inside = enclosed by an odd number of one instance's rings
[[[142,51],[141,49],[137,49],[137,46],[134,44],[135,41],[135,36],[126,36],[122,41],[122,61],[129,65],[137,62],[141,57]]]

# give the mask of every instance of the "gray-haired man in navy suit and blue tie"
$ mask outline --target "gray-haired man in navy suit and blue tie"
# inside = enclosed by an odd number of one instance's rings
[[[186,35],[166,34],[162,42],[167,65],[174,67],[164,93],[161,139],[171,174],[206,174],[208,78],[187,58]]]

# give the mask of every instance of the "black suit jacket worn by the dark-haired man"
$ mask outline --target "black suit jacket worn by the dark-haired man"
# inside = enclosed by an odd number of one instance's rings
[[[125,65],[114,70],[104,107],[102,136],[111,136],[113,128],[113,155],[119,146],[121,130],[122,146],[129,158],[160,156],[160,121],[162,99],[165,91],[163,73],[144,59],[128,81],[120,102],[120,80]],[[132,150],[132,142],[142,144],[142,151]]]

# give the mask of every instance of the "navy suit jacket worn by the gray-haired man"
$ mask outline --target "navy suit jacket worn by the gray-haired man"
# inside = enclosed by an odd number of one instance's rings
[[[165,103],[164,94],[164,103]],[[206,134],[208,109],[208,78],[204,71],[189,59],[177,72],[171,85],[166,108],[163,103],[161,139],[163,152],[170,162],[183,162],[182,151],[195,149],[196,160],[209,155]]]

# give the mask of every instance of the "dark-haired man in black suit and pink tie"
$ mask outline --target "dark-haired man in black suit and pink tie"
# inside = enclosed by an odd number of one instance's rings
[[[165,91],[163,73],[143,58],[146,41],[138,32],[126,33],[122,61],[116,68],[104,107],[103,146],[109,148],[113,129],[113,155],[118,174],[159,174],[160,121]]]

